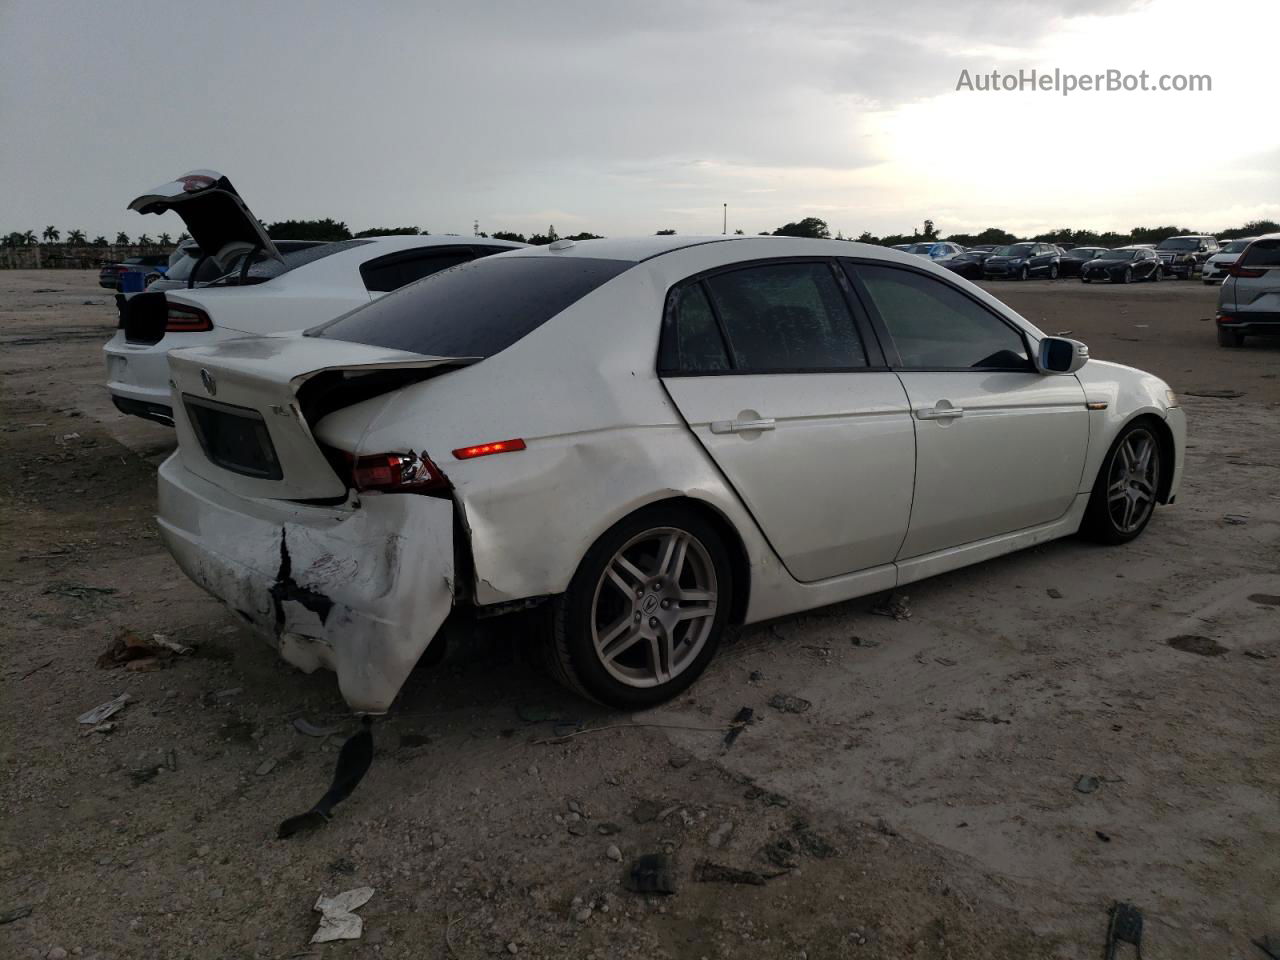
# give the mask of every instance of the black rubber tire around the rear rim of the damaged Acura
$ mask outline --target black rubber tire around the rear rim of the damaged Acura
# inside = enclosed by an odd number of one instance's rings
[[[655,530],[680,531],[692,538],[705,552],[705,559],[714,570],[714,616],[709,617],[710,622],[705,637],[701,640],[701,649],[687,659],[678,673],[666,682],[636,686],[623,682],[604,666],[596,654],[593,621],[596,616],[598,589],[603,590],[603,579],[616,554],[636,538],[643,538],[646,531]],[[570,690],[609,707],[643,709],[666,703],[698,680],[716,655],[728,623],[732,598],[733,568],[728,549],[716,527],[698,511],[687,506],[655,504],[646,507],[605,531],[586,552],[573,580],[570,581],[568,590],[547,604],[544,613],[547,666],[550,675]],[[603,600],[603,595],[600,599]],[[644,602],[646,603],[648,599],[646,594]],[[637,605],[640,603],[636,602]],[[675,605],[680,607],[680,603],[677,602]],[[635,613],[641,616],[639,611]],[[621,620],[614,622],[621,622]],[[652,618],[649,623],[653,623]],[[675,628],[672,635],[675,635]],[[686,632],[685,637],[687,636]],[[677,640],[673,649],[678,649],[684,643],[684,639]],[[635,643],[635,648],[649,649],[646,644],[640,641]],[[637,650],[637,653],[640,652]],[[618,657],[618,659],[622,658]]]

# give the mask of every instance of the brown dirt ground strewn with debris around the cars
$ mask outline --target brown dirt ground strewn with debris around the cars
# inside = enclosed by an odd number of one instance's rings
[[[1219,349],[1199,283],[992,289],[1184,394],[1183,492],[1143,538],[913,585],[905,621],[867,599],[751,627],[634,717],[553,686],[518,623],[457,636],[375,724],[334,820],[282,841],[357,723],[160,545],[173,436],[109,403],[109,292],[0,271],[0,956],[1094,957],[1121,900],[1148,960],[1262,957],[1280,343]],[[195,653],[100,668],[122,628]],[[122,692],[110,731],[77,723]],[[545,742],[579,724],[614,728]],[[625,890],[658,851],[676,892]],[[316,897],[361,886],[364,936],[308,946]]]

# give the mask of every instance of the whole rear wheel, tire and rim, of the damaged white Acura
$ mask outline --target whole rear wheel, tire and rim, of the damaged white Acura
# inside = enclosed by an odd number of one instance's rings
[[[549,604],[552,675],[620,709],[669,700],[716,655],[732,594],[728,550],[701,515],[639,511],[595,541]]]

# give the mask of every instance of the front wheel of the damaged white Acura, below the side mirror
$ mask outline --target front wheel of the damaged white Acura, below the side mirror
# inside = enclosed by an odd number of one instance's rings
[[[1080,532],[1105,544],[1137,538],[1156,509],[1164,470],[1160,438],[1149,421],[1137,420],[1121,430],[1093,483]]]

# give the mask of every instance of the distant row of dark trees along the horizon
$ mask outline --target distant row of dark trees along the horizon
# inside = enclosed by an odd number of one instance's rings
[[[271,239],[278,241],[344,241],[344,239],[361,239],[364,237],[398,237],[398,236],[430,236],[430,230],[422,230],[417,227],[370,227],[369,229],[352,230],[346,223],[340,220],[334,220],[332,218],[325,218],[323,220],[278,220],[271,224],[264,224],[266,227],[266,234]],[[1261,233],[1276,233],[1280,232],[1280,224],[1274,220],[1251,220],[1243,227],[1233,227],[1229,229],[1219,230],[1211,236],[1219,239],[1234,239],[1235,237],[1253,237]],[[657,232],[659,237],[669,237],[676,232],[671,228],[666,228]],[[733,230],[736,236],[742,236],[742,230]],[[1064,247],[1123,247],[1130,243],[1158,243],[1165,237],[1174,237],[1179,234],[1196,234],[1199,230],[1193,230],[1188,227],[1134,227],[1128,233],[1117,233],[1115,230],[1088,230],[1088,229],[1071,229],[1064,227],[1056,230],[1047,230],[1044,233],[1037,233],[1030,237],[1020,237],[1015,233],[1010,233],[1000,227],[988,227],[979,233],[951,233],[942,236],[933,220],[925,220],[919,228],[911,230],[911,233],[892,233],[883,237],[877,237],[876,234],[863,232],[856,237],[845,237],[837,230],[836,236],[832,237],[831,228],[827,225],[826,220],[817,216],[806,216],[801,220],[795,220],[792,223],[785,223],[774,230],[762,230],[759,236],[762,237],[810,237],[814,239],[852,239],[860,243],[878,243],[881,246],[892,247],[900,243],[925,243],[928,241],[950,241],[952,243],[959,243],[964,247],[973,247],[979,243],[1016,243],[1019,241],[1036,241],[1041,243],[1057,243]],[[457,236],[457,234],[445,234]],[[518,243],[532,243],[534,246],[543,246],[547,243],[553,243],[557,239],[599,239],[602,234],[598,233],[572,233],[563,238],[556,233],[556,227],[549,225],[545,233],[530,233],[525,236],[524,233],[516,233],[515,230],[494,230],[493,233],[485,233],[479,228],[475,232],[476,237],[493,237],[494,239],[516,241]],[[64,244],[67,247],[127,247],[127,246],[140,246],[140,247],[157,247],[169,248],[174,243],[182,243],[183,241],[191,239],[186,233],[178,236],[177,241],[168,233],[159,234],[155,239],[148,237],[146,233],[131,238],[124,230],[115,234],[115,241],[108,241],[105,236],[97,236],[92,241],[87,239],[84,230],[67,230],[65,239],[63,238],[63,232],[56,227],[46,227],[44,232],[37,237],[35,230],[14,230],[12,233],[0,237],[0,246],[5,247],[32,247],[36,244],[41,246],[58,246]]]

